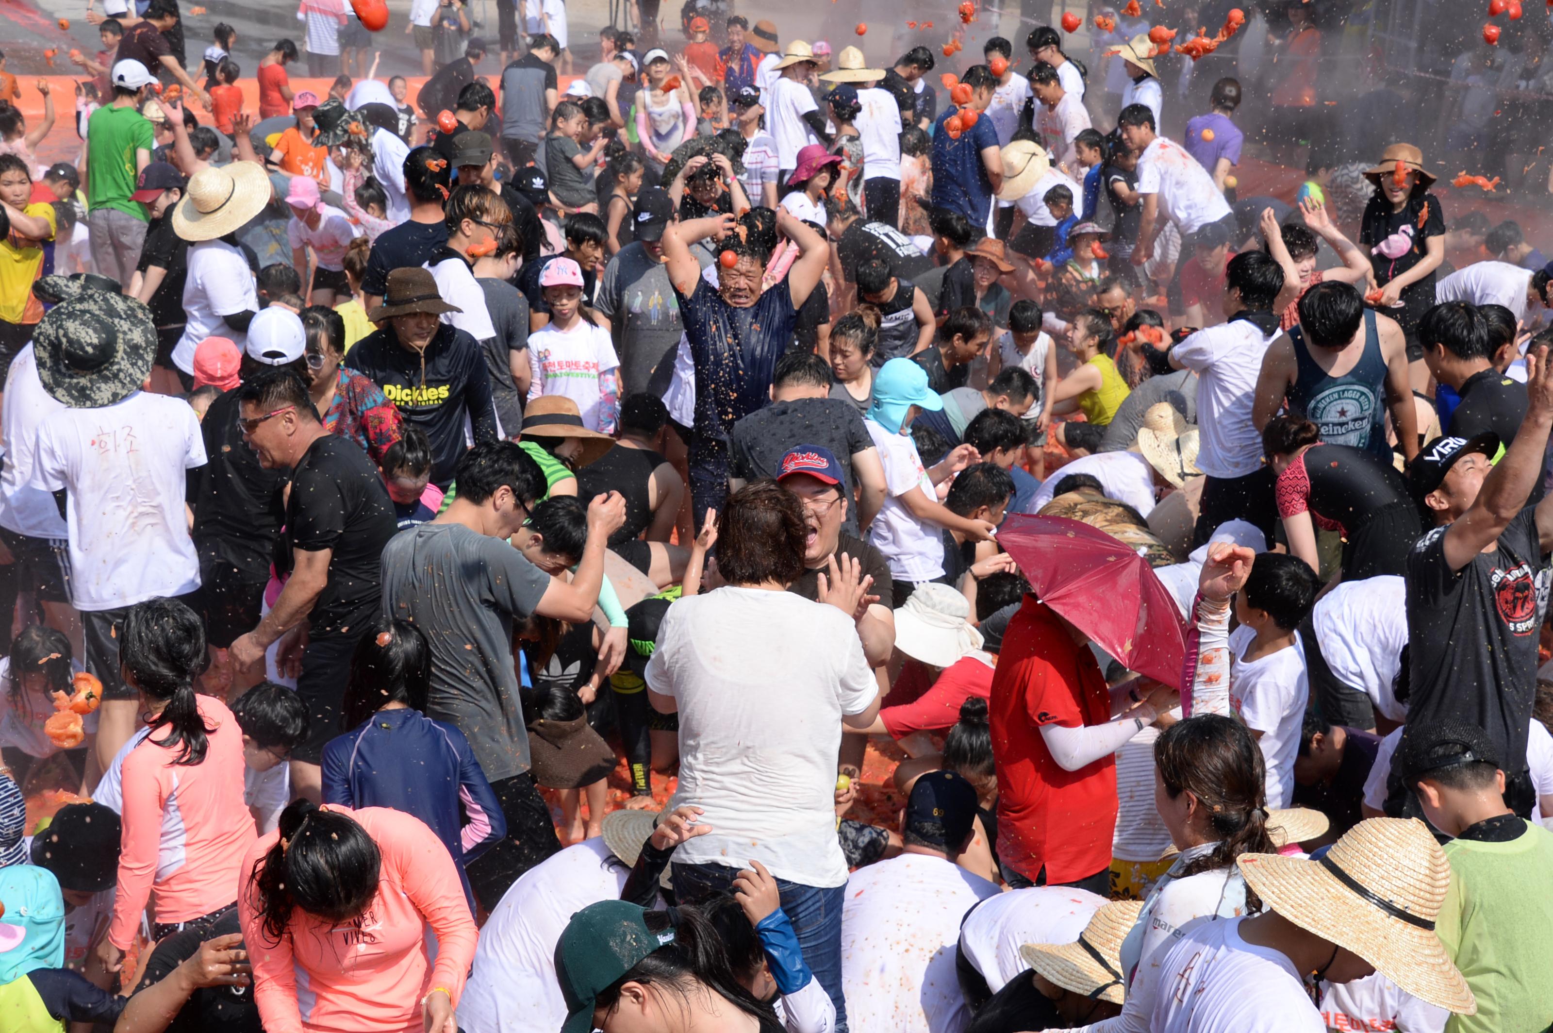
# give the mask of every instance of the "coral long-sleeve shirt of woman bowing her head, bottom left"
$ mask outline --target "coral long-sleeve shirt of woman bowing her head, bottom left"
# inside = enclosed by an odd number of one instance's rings
[[[377,896],[342,926],[292,912],[272,943],[255,910],[248,873],[280,839],[258,840],[242,864],[242,941],[253,965],[253,1000],[266,1033],[421,1033],[421,997],[443,988],[458,1005],[475,957],[475,923],[453,859],[424,822],[388,808],[351,811],[382,854]],[[426,962],[426,926],[436,965]]]

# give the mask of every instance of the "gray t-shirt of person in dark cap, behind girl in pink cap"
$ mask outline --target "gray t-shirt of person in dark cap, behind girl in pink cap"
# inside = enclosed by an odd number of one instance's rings
[[[702,249],[693,247],[691,253],[702,269],[711,261]],[[613,328],[621,398],[649,390],[652,371],[665,356],[674,354],[685,332],[669,267],[648,255],[641,244],[620,249],[598,281],[598,311]],[[665,379],[657,393],[666,387]]]

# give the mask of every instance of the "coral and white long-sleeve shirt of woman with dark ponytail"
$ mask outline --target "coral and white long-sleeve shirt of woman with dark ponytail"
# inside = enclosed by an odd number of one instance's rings
[[[157,746],[154,730],[124,758],[118,896],[109,941],[127,951],[155,892],[155,921],[200,918],[238,899],[242,854],[253,842],[253,816],[242,802],[242,730],[214,696],[196,696],[205,727],[214,727],[199,764],[179,764],[182,749]]]

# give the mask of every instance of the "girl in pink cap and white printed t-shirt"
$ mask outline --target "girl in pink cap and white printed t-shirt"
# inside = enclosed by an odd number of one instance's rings
[[[530,401],[564,395],[578,404],[589,430],[613,433],[620,359],[609,331],[582,315],[582,269],[570,258],[553,258],[539,273],[539,287],[550,306],[550,323],[528,337]]]

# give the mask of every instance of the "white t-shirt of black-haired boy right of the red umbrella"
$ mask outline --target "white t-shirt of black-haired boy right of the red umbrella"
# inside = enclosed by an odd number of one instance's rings
[[[1230,632],[1230,708],[1252,732],[1267,767],[1267,806],[1286,808],[1294,798],[1294,758],[1300,750],[1305,704],[1311,696],[1305,671],[1305,646],[1298,632],[1294,645],[1259,660],[1246,660],[1256,631],[1241,624]]]

